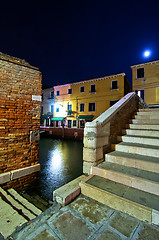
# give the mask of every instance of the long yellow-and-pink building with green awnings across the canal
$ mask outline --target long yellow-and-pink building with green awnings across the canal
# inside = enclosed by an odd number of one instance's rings
[[[86,121],[97,118],[130,90],[125,73],[55,86],[53,120],[83,128]]]

